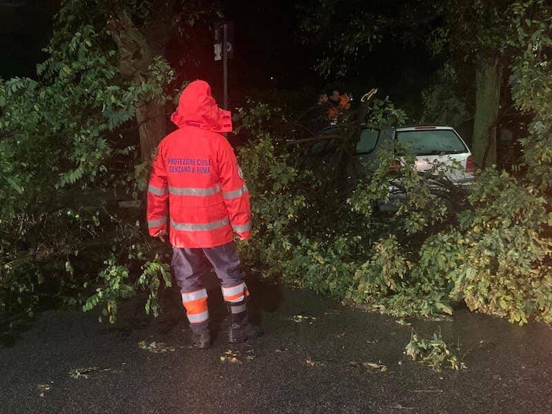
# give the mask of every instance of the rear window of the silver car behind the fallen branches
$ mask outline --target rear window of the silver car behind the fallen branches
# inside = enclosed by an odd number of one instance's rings
[[[414,155],[462,154],[468,149],[453,130],[413,130],[397,132],[397,140]]]

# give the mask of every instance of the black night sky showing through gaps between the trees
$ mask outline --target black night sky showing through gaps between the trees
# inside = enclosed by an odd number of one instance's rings
[[[35,65],[45,58],[41,48],[48,43],[51,17],[56,0],[0,0],[0,76],[34,76]],[[312,69],[315,52],[297,41],[297,10],[294,1],[224,2],[226,18],[235,22],[235,57],[230,61],[230,101],[251,90],[278,88],[324,92],[331,87]],[[182,50],[191,51],[196,67],[178,66]],[[197,28],[196,39],[188,44],[172,44],[168,58],[180,79],[206,79],[215,96],[221,95],[222,64],[213,60],[213,34]],[[408,70],[405,70],[405,69]],[[393,39],[384,39],[374,52],[358,63],[356,72],[339,82],[357,96],[370,88],[380,88],[393,99],[418,99],[426,86],[428,73],[437,64],[423,46],[404,48]],[[306,97],[313,100],[314,96]],[[306,102],[306,106],[310,105]]]

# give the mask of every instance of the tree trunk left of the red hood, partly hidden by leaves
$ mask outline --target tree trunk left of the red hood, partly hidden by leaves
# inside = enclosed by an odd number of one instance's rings
[[[110,19],[108,25],[119,49],[121,74],[139,85],[146,80],[144,74],[162,50],[155,50],[155,47],[150,45],[126,10],[118,12],[117,17]],[[159,101],[159,97],[150,97],[148,101],[139,103],[136,110],[142,161],[150,159],[157,144],[166,135],[165,110]]]

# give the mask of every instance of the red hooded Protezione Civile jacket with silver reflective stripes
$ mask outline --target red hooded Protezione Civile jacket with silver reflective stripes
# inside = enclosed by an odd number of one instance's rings
[[[148,188],[150,235],[168,231],[175,247],[208,248],[250,231],[249,193],[234,151],[218,132],[231,132],[208,83],[193,81],[171,117],[179,129],[159,143]],[[167,208],[168,199],[168,208]]]

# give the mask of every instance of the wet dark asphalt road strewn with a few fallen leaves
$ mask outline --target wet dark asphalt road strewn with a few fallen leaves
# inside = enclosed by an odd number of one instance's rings
[[[159,319],[128,302],[109,326],[97,313],[41,313],[0,347],[0,413],[552,413],[548,326],[463,309],[449,322],[408,326],[306,290],[249,287],[265,336],[228,346],[221,297],[212,295],[223,331],[208,351],[190,348],[177,296]],[[409,361],[411,328],[423,336],[440,328],[467,370]]]

